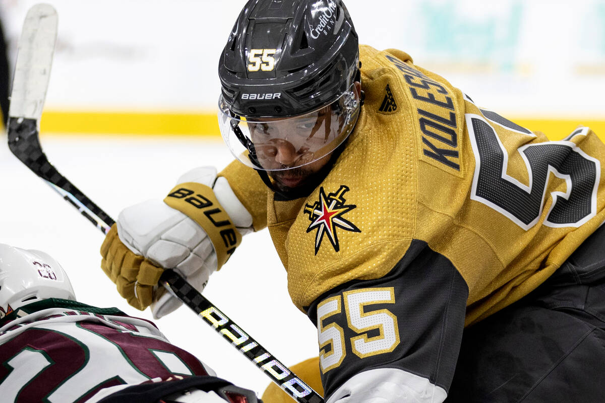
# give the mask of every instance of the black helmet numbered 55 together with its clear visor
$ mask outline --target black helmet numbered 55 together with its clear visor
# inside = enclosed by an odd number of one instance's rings
[[[316,161],[355,126],[358,74],[358,36],[341,0],[250,0],[218,65],[221,134],[257,169]],[[293,144],[299,161],[268,164],[277,140]]]

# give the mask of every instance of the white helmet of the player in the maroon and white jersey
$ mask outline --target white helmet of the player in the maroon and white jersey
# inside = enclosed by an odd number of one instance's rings
[[[0,318],[46,298],[76,300],[59,262],[42,251],[0,243]]]

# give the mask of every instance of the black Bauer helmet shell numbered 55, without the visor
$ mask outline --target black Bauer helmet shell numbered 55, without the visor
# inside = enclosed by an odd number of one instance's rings
[[[240,116],[288,117],[327,105],[353,83],[357,33],[340,0],[250,0],[218,65]]]

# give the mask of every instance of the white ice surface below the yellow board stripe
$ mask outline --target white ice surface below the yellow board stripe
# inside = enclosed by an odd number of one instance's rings
[[[67,270],[79,301],[151,320],[149,310],[128,306],[100,269],[101,231],[17,160],[5,135],[0,141],[0,242],[51,254]],[[41,143],[59,172],[114,219],[128,205],[163,198],[192,167],[222,169],[231,161],[222,141],[192,137],[42,135]],[[286,271],[267,230],[244,237],[204,295],[287,366],[317,355],[315,327],[290,301]],[[270,383],[189,308],[181,306],[155,323],[218,376],[259,395]]]

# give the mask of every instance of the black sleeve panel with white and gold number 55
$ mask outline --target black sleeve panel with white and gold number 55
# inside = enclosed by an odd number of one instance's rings
[[[467,297],[468,287],[450,260],[420,240],[411,242],[387,276],[349,282],[322,295],[307,312],[315,324],[322,318],[325,396],[356,373],[385,367],[448,390]]]

